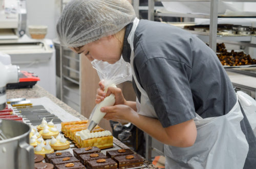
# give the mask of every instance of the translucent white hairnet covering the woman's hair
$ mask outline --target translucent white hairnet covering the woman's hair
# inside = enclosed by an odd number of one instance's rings
[[[127,0],[73,0],[57,23],[61,45],[78,47],[113,35],[135,18]]]

